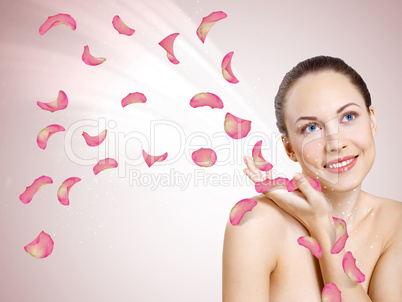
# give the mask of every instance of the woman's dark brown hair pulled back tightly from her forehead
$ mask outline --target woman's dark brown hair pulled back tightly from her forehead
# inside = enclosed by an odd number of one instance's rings
[[[339,58],[329,56],[313,57],[300,62],[285,75],[281,85],[279,86],[278,93],[275,96],[276,126],[278,127],[279,132],[284,136],[288,136],[288,131],[285,125],[287,93],[301,77],[326,70],[332,70],[347,76],[352,84],[359,89],[364,98],[364,102],[366,103],[367,111],[370,112],[370,92],[368,91],[366,83],[363,81],[362,77],[352,67]]]

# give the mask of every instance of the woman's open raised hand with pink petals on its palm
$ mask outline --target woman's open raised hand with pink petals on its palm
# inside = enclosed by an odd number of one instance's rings
[[[243,171],[254,183],[272,179],[272,173],[266,172],[264,176],[250,157],[244,156],[244,161],[247,168]],[[328,199],[315,190],[302,173],[297,173],[293,180],[300,191],[288,192],[285,188],[275,188],[263,194],[303,224],[310,234],[325,231],[333,237],[335,229],[331,215],[332,206]]]

